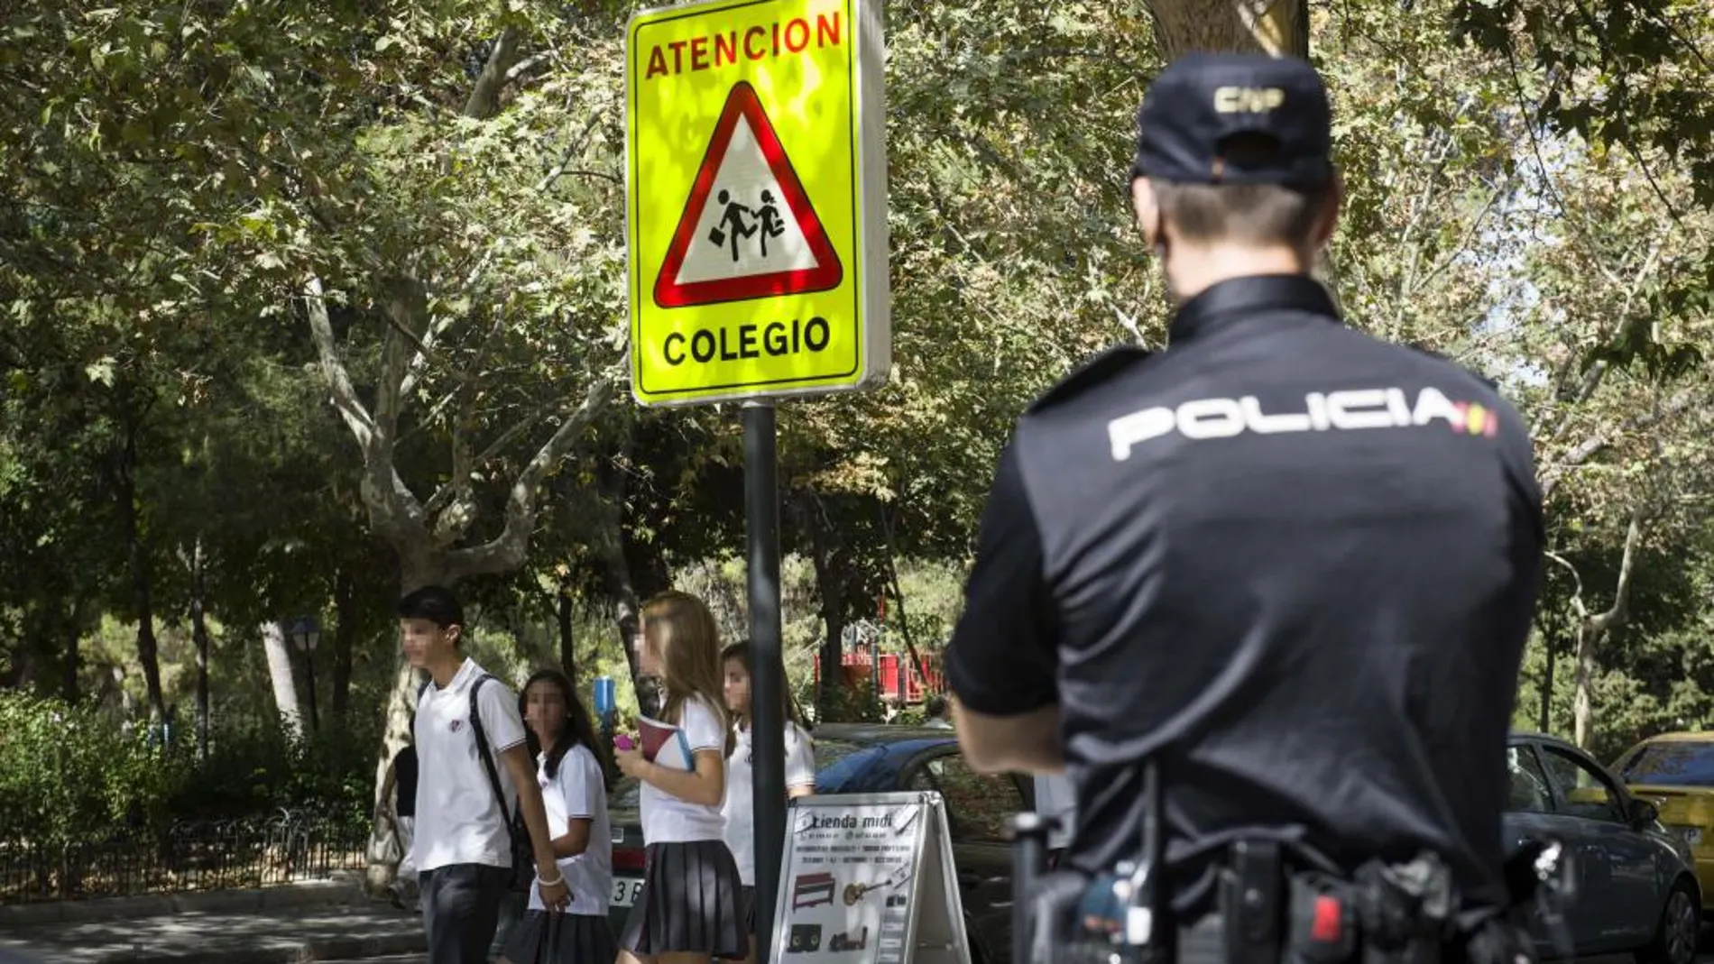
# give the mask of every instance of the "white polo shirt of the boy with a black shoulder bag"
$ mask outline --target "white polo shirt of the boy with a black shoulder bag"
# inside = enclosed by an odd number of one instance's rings
[[[506,810],[494,800],[488,774],[476,757],[470,726],[470,687],[483,669],[466,658],[444,688],[428,683],[417,702],[417,868],[428,872],[454,863],[511,866],[512,844],[506,813],[518,805],[518,789],[499,755],[524,741],[518,693],[499,678],[476,697],[482,726],[494,750],[494,771],[506,793]]]

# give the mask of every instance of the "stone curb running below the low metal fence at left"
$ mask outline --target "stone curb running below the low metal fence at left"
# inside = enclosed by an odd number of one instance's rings
[[[339,872],[331,880],[305,880],[300,884],[249,887],[243,890],[201,890],[149,897],[98,897],[93,901],[0,906],[0,928],[163,918],[194,913],[273,911],[341,902],[367,902],[362,889],[362,875]]]

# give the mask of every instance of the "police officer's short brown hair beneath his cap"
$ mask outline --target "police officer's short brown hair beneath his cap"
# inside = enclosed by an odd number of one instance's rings
[[[1220,154],[1243,159],[1277,147],[1272,137],[1238,135]],[[1150,178],[1160,219],[1172,221],[1188,241],[1239,241],[1250,245],[1303,245],[1333,190],[1332,180],[1313,183],[1184,183]]]

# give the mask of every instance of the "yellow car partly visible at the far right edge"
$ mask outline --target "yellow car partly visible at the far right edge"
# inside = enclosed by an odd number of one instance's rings
[[[1702,904],[1714,907],[1714,731],[1651,736],[1625,750],[1613,772],[1690,844]]]

